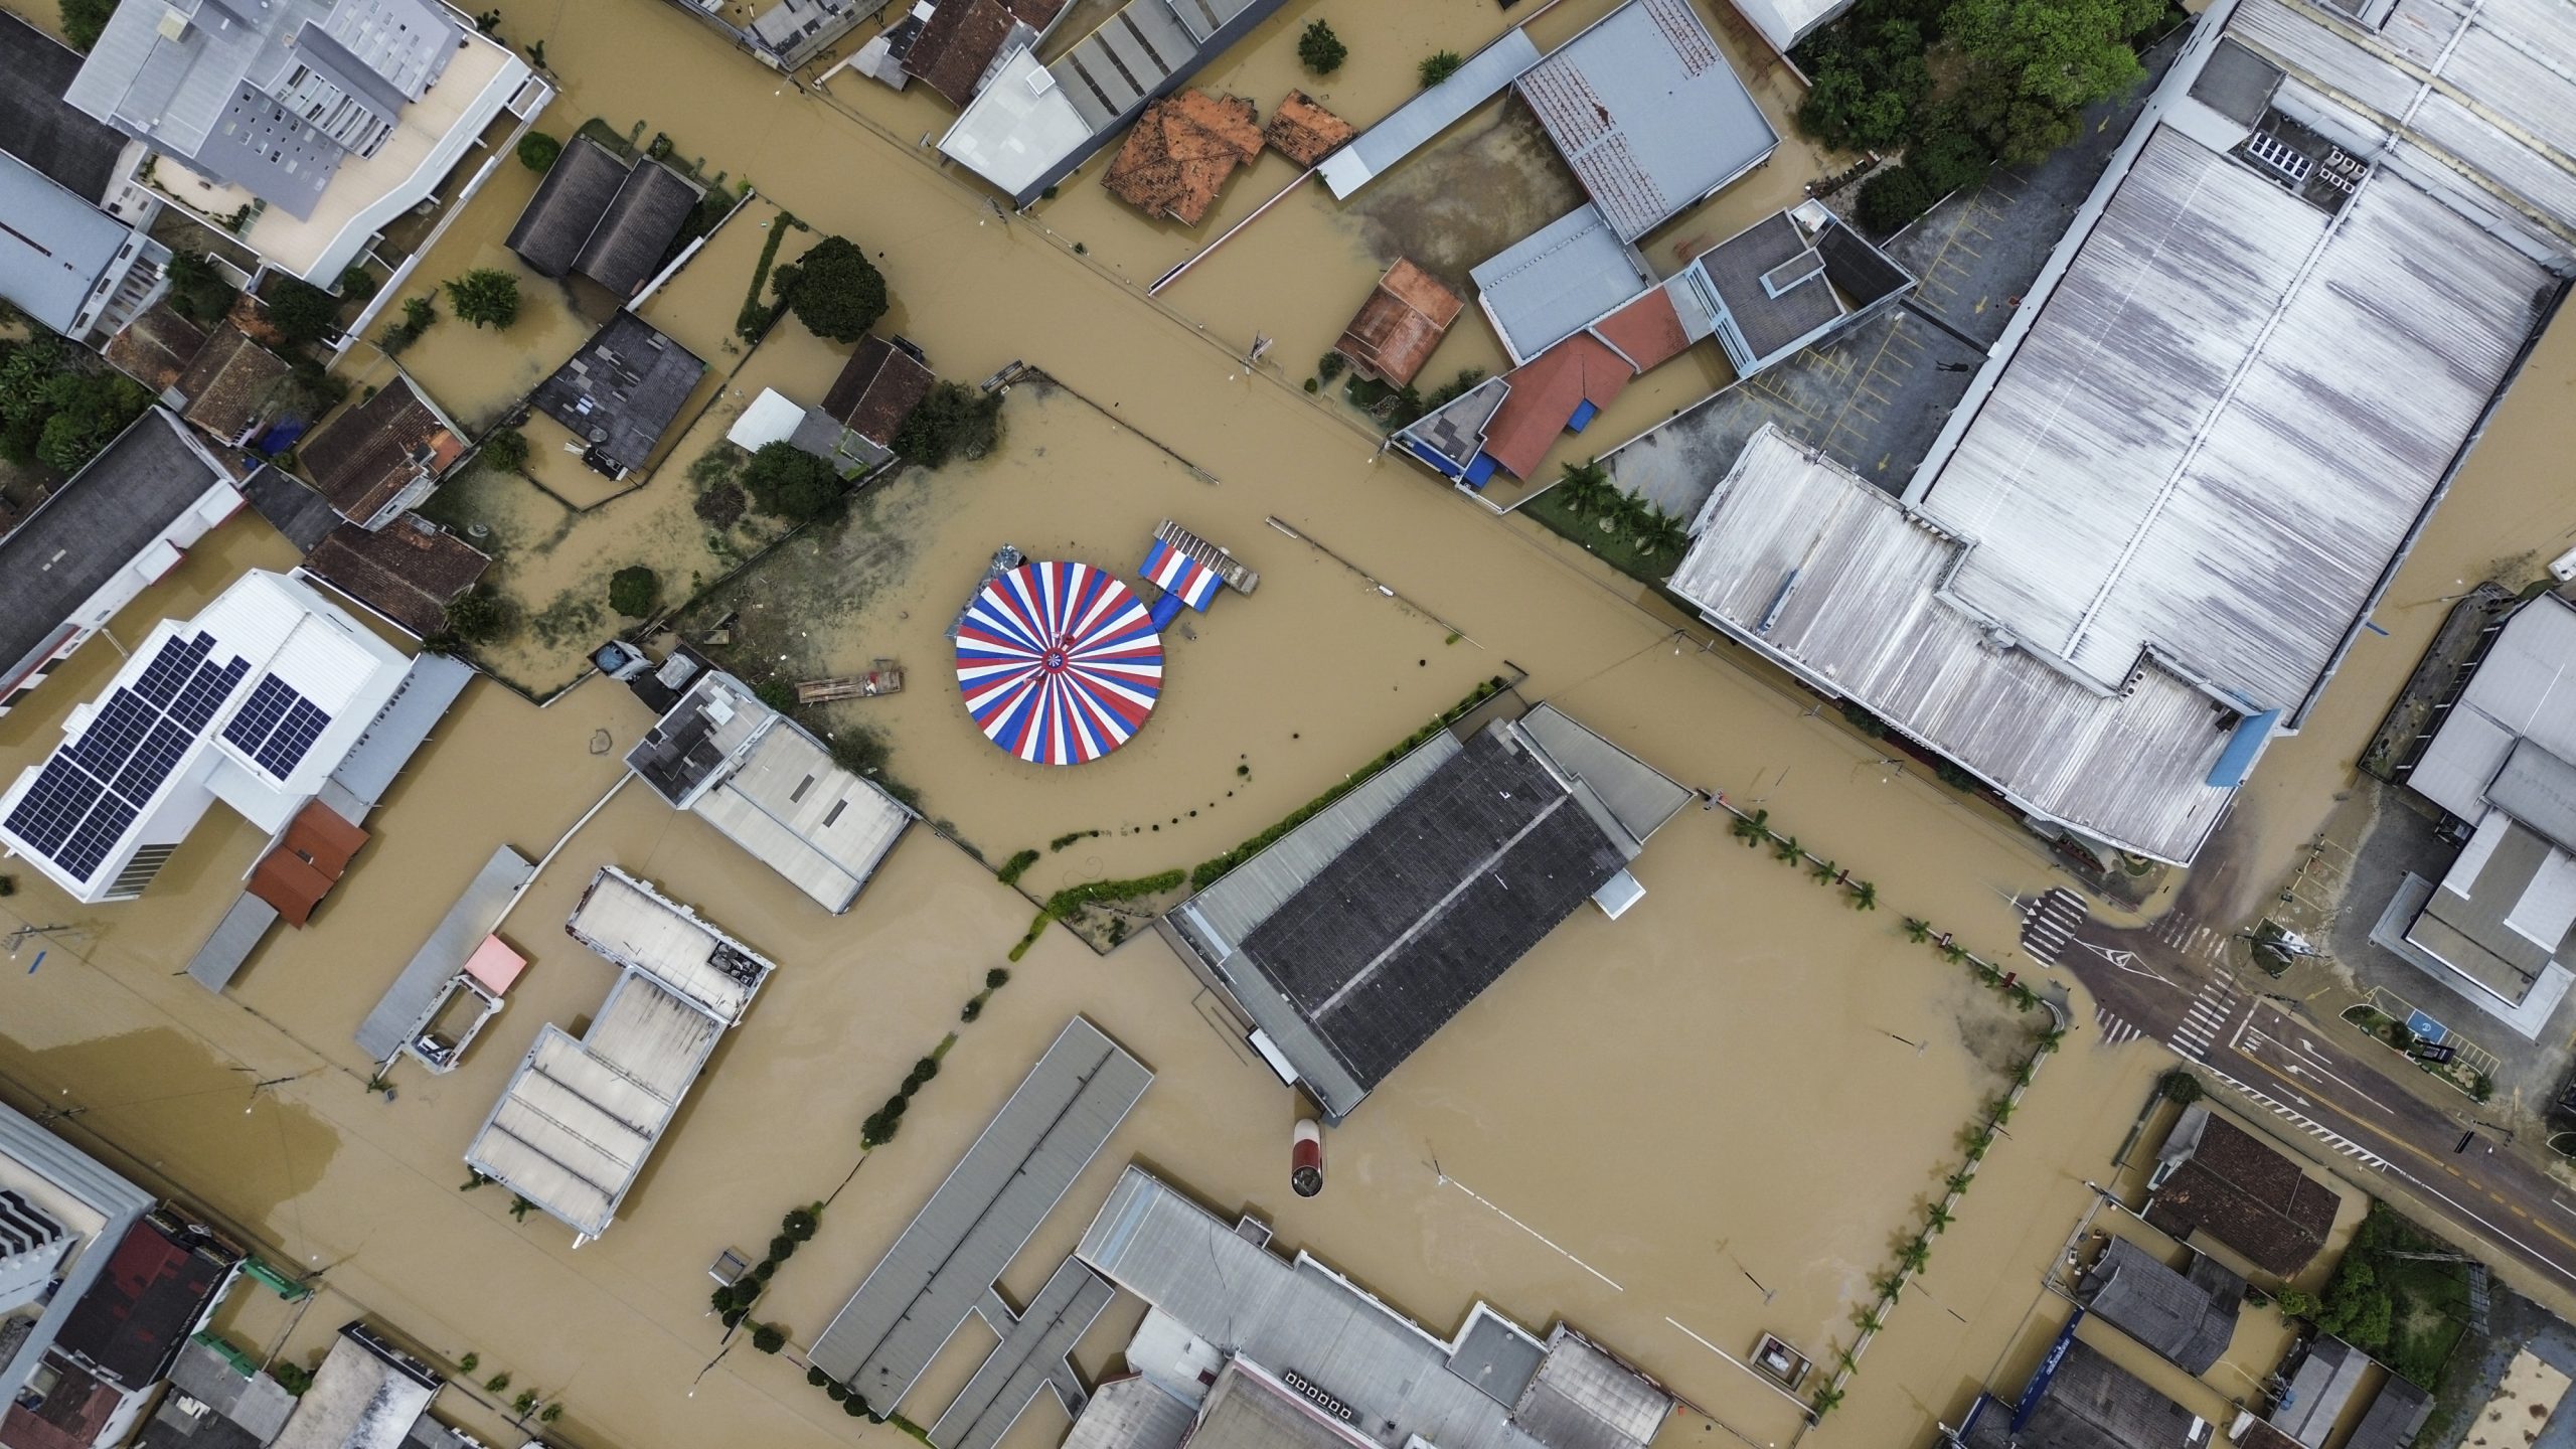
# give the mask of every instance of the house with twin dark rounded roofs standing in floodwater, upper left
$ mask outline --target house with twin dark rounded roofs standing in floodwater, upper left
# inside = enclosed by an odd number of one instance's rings
[[[703,186],[657,160],[629,162],[572,137],[505,245],[538,276],[587,276],[631,302],[703,199]]]

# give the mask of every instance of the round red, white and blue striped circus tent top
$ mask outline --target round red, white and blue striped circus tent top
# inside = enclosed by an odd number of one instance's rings
[[[958,624],[958,688],[994,745],[1077,766],[1126,745],[1162,694],[1162,634],[1113,575],[1020,565],[984,585]]]

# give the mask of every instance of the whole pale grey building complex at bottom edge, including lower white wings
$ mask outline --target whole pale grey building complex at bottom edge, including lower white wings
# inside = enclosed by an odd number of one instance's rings
[[[1074,1261],[1146,1305],[1136,1387],[1100,1387],[1077,1449],[1646,1449],[1674,1408],[1564,1323],[1540,1338],[1479,1302],[1440,1336],[1133,1165]]]

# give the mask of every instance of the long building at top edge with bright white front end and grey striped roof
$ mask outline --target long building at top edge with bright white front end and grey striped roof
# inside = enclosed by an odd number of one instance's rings
[[[943,0],[940,8],[963,3]],[[1054,64],[1041,64],[1036,49],[1005,46],[994,75],[940,137],[940,155],[997,186],[1012,206],[1028,206],[1105,147],[1149,101],[1188,85],[1190,75],[1280,5],[1283,0],[1128,0]],[[920,41],[912,52],[920,54]]]

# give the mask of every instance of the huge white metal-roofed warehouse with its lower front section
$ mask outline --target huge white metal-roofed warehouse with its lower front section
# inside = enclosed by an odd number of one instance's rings
[[[2197,856],[2568,273],[2553,13],[2398,10],[2213,5],[1901,498],[1757,438],[1674,590],[2032,828]]]

